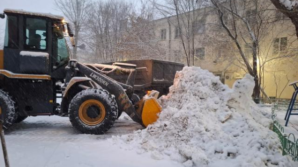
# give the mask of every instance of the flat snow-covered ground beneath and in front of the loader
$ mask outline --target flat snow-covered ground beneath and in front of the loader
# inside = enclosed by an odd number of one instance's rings
[[[113,135],[132,133],[141,125],[123,116],[106,135],[75,131],[68,117],[28,117],[5,132],[11,167],[182,167],[157,161],[133,150],[121,149],[110,140]],[[0,167],[4,167],[0,152]]]

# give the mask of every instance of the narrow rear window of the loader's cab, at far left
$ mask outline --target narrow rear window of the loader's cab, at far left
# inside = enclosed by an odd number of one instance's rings
[[[4,47],[13,49],[18,48],[17,25],[17,17],[8,15],[5,27]]]

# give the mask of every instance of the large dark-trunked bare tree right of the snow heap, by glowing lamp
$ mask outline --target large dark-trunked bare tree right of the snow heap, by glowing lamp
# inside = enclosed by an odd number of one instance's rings
[[[210,0],[214,5],[220,17],[221,24],[226,30],[228,36],[232,39],[236,48],[239,51],[241,61],[245,71],[254,77],[255,87],[253,97],[260,98],[261,80],[258,72],[258,50],[259,42],[262,36],[261,27],[263,25],[262,13],[258,8],[258,0]],[[253,6],[253,7],[251,7]],[[250,54],[245,54],[245,49],[241,45],[244,43],[251,49],[252,59]]]

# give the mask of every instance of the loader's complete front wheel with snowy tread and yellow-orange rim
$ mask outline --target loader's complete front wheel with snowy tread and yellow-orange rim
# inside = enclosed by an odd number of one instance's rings
[[[85,134],[104,134],[114,124],[117,114],[115,98],[104,89],[82,90],[69,106],[72,125]]]

